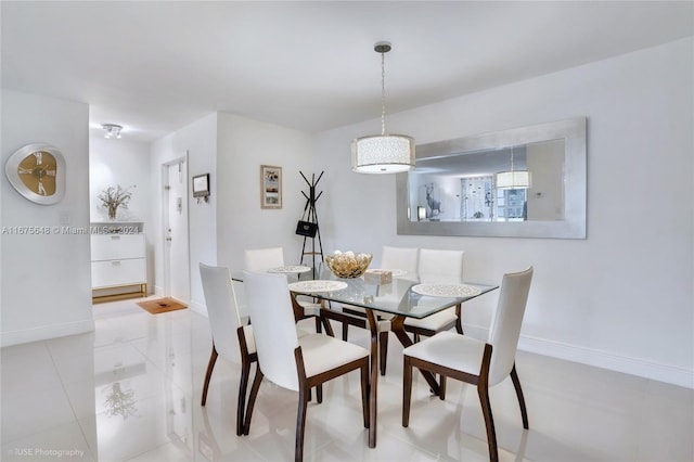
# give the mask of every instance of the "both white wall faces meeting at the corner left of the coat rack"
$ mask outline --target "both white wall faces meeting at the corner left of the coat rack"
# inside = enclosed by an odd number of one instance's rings
[[[189,177],[210,174],[209,202],[197,204],[189,194],[190,306],[206,313],[200,262],[243,269],[245,248],[282,246],[287,261],[300,257],[303,239],[294,231],[304,209],[299,176],[313,174],[308,133],[244,117],[217,113],[206,116],[152,145],[154,172],[151,195],[160,209],[160,165],[188,154]],[[283,207],[260,208],[260,165],[283,167]],[[189,183],[190,183],[189,178]],[[153,227],[162,228],[160,213]],[[162,232],[153,232],[157,293],[163,284]]]

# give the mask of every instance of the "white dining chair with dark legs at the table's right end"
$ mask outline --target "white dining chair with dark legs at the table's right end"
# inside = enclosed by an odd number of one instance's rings
[[[452,332],[439,332],[404,348],[402,426],[407,427],[410,424],[412,368],[419,368],[441,375],[441,400],[446,399],[446,377],[477,386],[487,428],[489,459],[492,462],[499,460],[499,453],[489,387],[511,376],[520,407],[523,427],[528,428],[528,413],[516,372],[515,357],[531,280],[532,267],[525,271],[504,274],[487,342]]]

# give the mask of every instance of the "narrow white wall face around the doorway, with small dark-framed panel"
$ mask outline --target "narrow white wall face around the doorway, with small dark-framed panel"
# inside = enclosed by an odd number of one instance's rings
[[[189,287],[191,309],[205,311],[203,288],[200,281],[200,261],[215,261],[217,255],[217,217],[215,216],[215,194],[209,203],[197,204],[192,198],[191,178],[195,175],[210,172],[211,188],[215,188],[217,156],[217,114],[211,114],[190,124],[182,129],[157,140],[151,147],[151,197],[155,204],[152,217],[152,239],[155,248],[155,286],[162,293],[164,284],[163,267],[163,230],[162,230],[162,165],[181,156],[188,156],[188,209],[189,209],[189,256],[190,280]]]

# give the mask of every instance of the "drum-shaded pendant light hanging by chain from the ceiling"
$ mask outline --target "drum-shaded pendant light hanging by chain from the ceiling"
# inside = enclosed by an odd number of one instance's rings
[[[386,134],[385,53],[390,48],[387,41],[374,46],[374,51],[381,53],[381,134],[352,140],[351,169],[359,174],[398,174],[414,167],[414,139]]]

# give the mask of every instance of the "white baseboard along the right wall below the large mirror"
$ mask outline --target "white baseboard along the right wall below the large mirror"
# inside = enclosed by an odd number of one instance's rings
[[[465,333],[477,338],[487,338],[488,330],[474,325],[464,325]],[[608,369],[611,371],[638,375],[658,382],[694,388],[694,370],[679,368],[642,359],[614,355],[592,348],[552,342],[543,338],[522,335],[518,349],[581,364]]]

